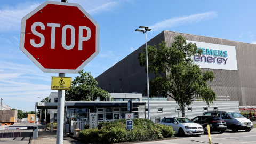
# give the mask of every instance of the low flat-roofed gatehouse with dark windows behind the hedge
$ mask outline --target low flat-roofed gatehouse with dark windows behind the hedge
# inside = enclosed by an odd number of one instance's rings
[[[55,110],[57,109],[57,105],[58,103],[56,102],[36,102],[36,111],[37,109],[48,109],[48,111],[50,111],[50,114],[48,114],[51,115],[51,122],[54,122],[56,120],[55,117],[57,117],[57,111]],[[145,105],[146,102],[133,101],[134,117],[140,117],[139,109],[140,107],[144,109]],[[97,113],[99,122],[110,122],[122,119],[125,118],[125,113],[128,113],[127,101],[65,101],[66,123],[64,132],[70,133],[73,130],[73,122],[75,122],[76,128],[83,130],[84,125],[89,123],[90,113]]]

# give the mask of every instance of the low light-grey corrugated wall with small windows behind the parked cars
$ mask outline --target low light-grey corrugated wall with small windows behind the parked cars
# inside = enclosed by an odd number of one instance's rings
[[[158,118],[158,117],[181,117],[181,111],[176,112],[176,108],[179,107],[175,101],[165,101],[158,102],[152,101],[149,104],[150,106],[150,118]],[[148,107],[146,103],[146,108]],[[188,107],[192,108],[192,111],[188,111]],[[194,101],[191,105],[185,107],[185,117],[194,118],[196,116],[202,115],[204,111],[204,107],[208,107],[206,102]],[[238,101],[216,101],[213,102],[213,105],[208,107],[208,111],[214,111],[213,107],[218,107],[218,111],[239,111],[239,102]],[[163,108],[162,113],[157,112],[157,108]],[[144,106],[140,107],[139,117],[145,118],[145,110]],[[146,118],[148,118],[148,111],[146,111]]]

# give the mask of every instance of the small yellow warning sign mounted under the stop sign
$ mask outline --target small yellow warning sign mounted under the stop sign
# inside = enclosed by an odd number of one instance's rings
[[[71,90],[72,77],[52,76],[52,90]]]

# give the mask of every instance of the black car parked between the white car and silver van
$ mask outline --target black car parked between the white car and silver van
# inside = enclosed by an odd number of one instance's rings
[[[227,129],[226,121],[220,116],[197,116],[192,119],[195,123],[203,126],[204,133],[208,133],[207,124],[210,126],[210,131],[218,131],[220,133],[225,132]]]

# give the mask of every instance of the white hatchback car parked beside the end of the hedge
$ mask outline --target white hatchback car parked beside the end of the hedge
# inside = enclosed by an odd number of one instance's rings
[[[180,135],[202,135],[203,127],[185,117],[165,117],[160,124],[172,126],[173,131]]]

